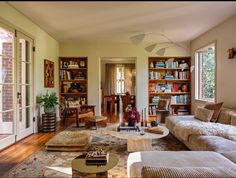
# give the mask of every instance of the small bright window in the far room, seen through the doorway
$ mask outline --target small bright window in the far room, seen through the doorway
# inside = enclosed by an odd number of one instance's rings
[[[116,93],[125,93],[124,67],[116,67]]]

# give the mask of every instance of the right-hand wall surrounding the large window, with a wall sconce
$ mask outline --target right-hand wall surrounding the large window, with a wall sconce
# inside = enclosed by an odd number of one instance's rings
[[[191,56],[194,63],[196,49],[216,41],[216,102],[224,102],[224,107],[236,108],[236,57],[228,59],[227,50],[236,47],[236,15],[191,41]],[[194,99],[194,72],[192,75],[192,111],[205,102]]]

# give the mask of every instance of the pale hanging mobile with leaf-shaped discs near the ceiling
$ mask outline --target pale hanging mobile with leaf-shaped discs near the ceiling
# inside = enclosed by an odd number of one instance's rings
[[[165,47],[162,47],[161,49],[159,49],[156,52],[157,55],[164,56],[166,48],[170,48],[170,47],[176,47],[177,46],[177,47],[180,47],[180,48],[187,49],[187,47],[172,41],[170,38],[168,38],[166,35],[164,35],[162,33],[141,33],[141,34],[134,35],[134,36],[130,37],[130,40],[134,45],[138,45],[144,40],[144,38],[147,35],[158,35],[158,36],[161,36],[164,39],[164,40],[162,40],[163,42],[154,43],[154,44],[151,44],[151,45],[145,47],[145,50],[147,52],[152,52],[157,45],[165,45],[165,44],[167,44],[168,46],[165,46]]]

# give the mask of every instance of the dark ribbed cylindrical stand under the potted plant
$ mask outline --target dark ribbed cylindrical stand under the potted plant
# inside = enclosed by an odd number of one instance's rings
[[[42,132],[56,131],[56,113],[42,114]]]

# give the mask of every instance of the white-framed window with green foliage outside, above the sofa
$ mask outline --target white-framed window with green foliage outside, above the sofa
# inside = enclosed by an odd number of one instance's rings
[[[215,43],[195,52],[195,98],[215,101]]]

